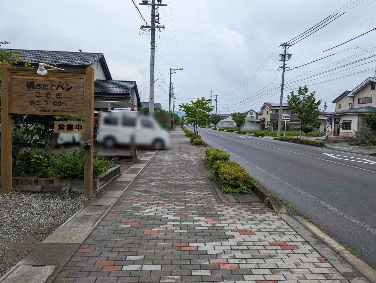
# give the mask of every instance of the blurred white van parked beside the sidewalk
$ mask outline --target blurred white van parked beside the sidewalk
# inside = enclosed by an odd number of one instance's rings
[[[170,148],[170,135],[155,119],[138,112],[99,113],[97,141],[105,147],[130,145],[156,150]]]

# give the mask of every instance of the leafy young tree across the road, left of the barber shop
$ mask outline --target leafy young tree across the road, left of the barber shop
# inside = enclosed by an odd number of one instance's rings
[[[316,101],[315,91],[308,94],[309,89],[307,85],[299,86],[297,94],[291,91],[287,96],[287,103],[291,109],[291,114],[294,114],[300,120],[300,138],[302,138],[302,127],[317,121],[317,116],[320,114],[318,106],[321,100]]]

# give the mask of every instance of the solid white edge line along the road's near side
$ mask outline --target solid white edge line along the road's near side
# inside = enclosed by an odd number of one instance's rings
[[[218,146],[218,147],[221,147],[220,145],[217,145],[217,146]],[[242,158],[242,157],[236,155],[235,153],[232,153],[231,151],[227,150],[226,148],[224,148],[224,147],[221,147],[221,148],[223,148],[223,150],[225,150],[227,153],[230,153],[230,154],[232,154],[233,156],[238,157],[239,159],[243,160],[244,162],[248,163],[249,165],[255,167],[255,168],[258,169],[258,170],[260,170],[261,172],[263,172],[263,173],[269,175],[270,177],[276,179],[277,181],[279,181],[279,182],[281,182],[281,183],[287,185],[287,186],[290,187],[291,189],[294,189],[295,191],[299,192],[300,194],[302,194],[302,195],[304,195],[304,196],[310,198],[311,200],[316,201],[317,203],[321,204],[322,206],[326,207],[327,209],[329,209],[329,210],[331,210],[331,211],[337,213],[338,215],[342,216],[343,218],[346,218],[347,220],[350,220],[350,221],[354,222],[355,224],[359,225],[359,226],[362,227],[363,229],[365,229],[365,230],[367,230],[367,231],[369,231],[369,232],[371,232],[371,233],[373,233],[373,234],[376,234],[376,229],[375,229],[375,228],[373,228],[373,227],[371,227],[371,226],[365,224],[364,222],[360,221],[359,219],[356,219],[355,217],[352,217],[352,216],[348,215],[347,213],[343,212],[342,210],[339,210],[339,209],[337,209],[336,207],[331,206],[330,204],[326,203],[325,201],[322,201],[322,200],[320,200],[319,198],[314,197],[313,195],[309,194],[308,192],[305,192],[305,191],[303,191],[303,190],[297,188],[296,186],[291,185],[290,183],[286,182],[285,180],[280,179],[279,177],[277,177],[277,176],[271,174],[270,172],[268,172],[268,171],[266,171],[266,170],[260,168],[259,166],[257,166],[257,165],[255,165],[255,164],[249,162],[248,160],[246,160],[246,159],[244,159],[244,158]]]

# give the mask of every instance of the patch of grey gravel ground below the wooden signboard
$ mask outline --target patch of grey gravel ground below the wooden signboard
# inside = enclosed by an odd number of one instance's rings
[[[0,276],[90,200],[83,193],[0,193]]]

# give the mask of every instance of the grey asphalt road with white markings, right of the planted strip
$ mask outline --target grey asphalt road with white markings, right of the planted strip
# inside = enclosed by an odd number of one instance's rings
[[[211,129],[199,135],[376,266],[376,157]]]

